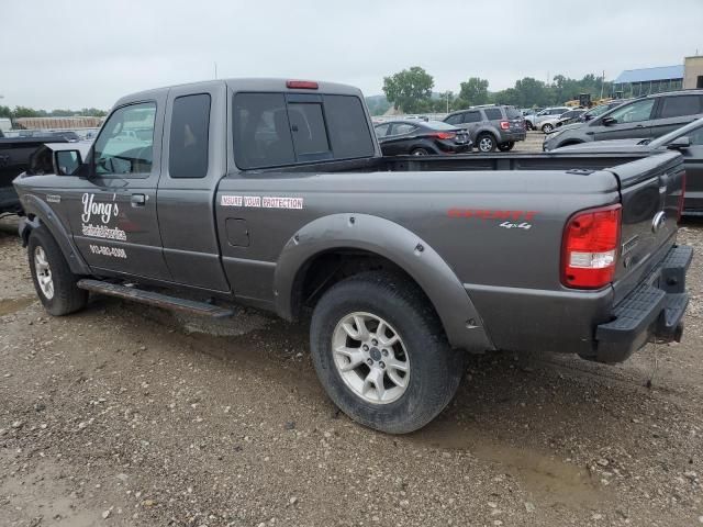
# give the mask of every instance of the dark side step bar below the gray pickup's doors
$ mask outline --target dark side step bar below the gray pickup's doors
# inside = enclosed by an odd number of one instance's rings
[[[168,296],[166,294],[154,293],[152,291],[127,288],[126,285],[119,285],[116,283],[101,282],[100,280],[78,280],[76,285],[87,291],[133,300],[135,302],[155,305],[166,310],[186,311],[196,315],[212,316],[214,318],[225,318],[234,315],[232,310],[208,304],[205,302],[178,299],[176,296]]]

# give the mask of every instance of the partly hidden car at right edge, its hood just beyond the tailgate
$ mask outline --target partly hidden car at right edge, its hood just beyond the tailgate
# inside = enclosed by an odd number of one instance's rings
[[[685,169],[683,214],[703,216],[703,117],[656,139],[614,139],[565,146],[554,152],[579,154],[654,153],[679,150]]]

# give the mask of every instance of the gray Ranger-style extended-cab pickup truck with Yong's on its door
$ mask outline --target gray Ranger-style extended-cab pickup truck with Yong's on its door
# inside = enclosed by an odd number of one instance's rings
[[[85,155],[14,186],[53,315],[104,293],[310,321],[317,375],[388,433],[451,400],[464,351],[603,362],[679,339],[679,153],[383,158],[359,90],[233,79],[118,102]]]

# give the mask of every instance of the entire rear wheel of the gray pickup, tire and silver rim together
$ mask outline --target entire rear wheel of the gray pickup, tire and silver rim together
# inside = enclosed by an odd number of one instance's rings
[[[310,341],[330,399],[354,421],[389,434],[434,419],[464,371],[464,354],[449,347],[422,291],[383,272],[333,285],[314,309]]]

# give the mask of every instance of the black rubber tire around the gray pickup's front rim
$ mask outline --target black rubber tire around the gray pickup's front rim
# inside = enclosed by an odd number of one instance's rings
[[[54,293],[51,298],[42,290],[38,282],[35,257],[40,248],[44,253],[44,259],[48,262],[51,272],[51,281],[54,288]],[[62,249],[46,227],[41,226],[32,231],[27,245],[27,255],[34,289],[44,309],[49,314],[54,316],[68,315],[86,306],[88,291],[76,287],[77,277],[70,271]]]

